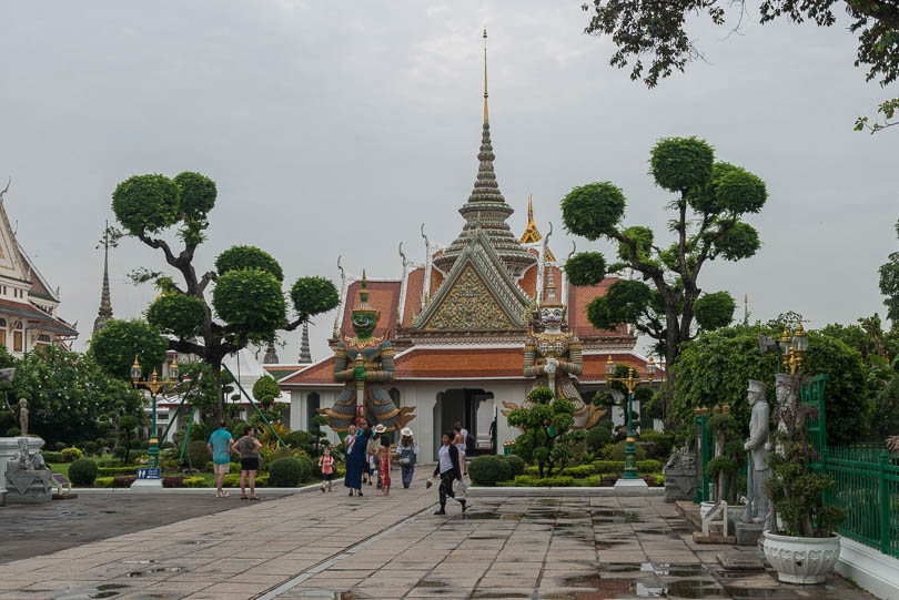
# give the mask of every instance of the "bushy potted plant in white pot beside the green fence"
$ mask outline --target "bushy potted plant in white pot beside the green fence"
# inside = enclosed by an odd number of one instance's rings
[[[802,405],[801,376],[778,374],[780,425],[770,439],[777,451],[768,455],[771,475],[765,490],[771,501],[770,530],[764,532],[765,558],[787,583],[822,583],[840,557],[840,539],[834,532],[844,510],[824,501],[834,479],[811,470],[817,457],[806,435],[806,421],[818,415]]]

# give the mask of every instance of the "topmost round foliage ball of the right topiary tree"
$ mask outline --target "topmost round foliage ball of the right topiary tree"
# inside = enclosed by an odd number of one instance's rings
[[[701,187],[711,179],[715,151],[705,140],[664,138],[653,149],[649,164],[656,184],[669,192]]]

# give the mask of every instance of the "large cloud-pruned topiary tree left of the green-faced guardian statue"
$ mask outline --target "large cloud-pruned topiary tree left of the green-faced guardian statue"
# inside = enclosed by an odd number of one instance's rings
[[[299,279],[291,288],[296,318],[289,321],[283,271],[272,256],[253,246],[224,251],[214,271],[199,275],[194,257],[206,237],[216,195],[215,183],[200,173],[184,172],[173,179],[134,175],[112,194],[112,211],[122,228],[109,233],[113,242],[131,236],[159,251],[178,272],[180,286],[159,271],[139,268],[131,276],[135,283],[154,282],[161,291],[147,317],[168,336],[169,349],[201,357],[221,385],[224,356],[248,344],[274,340],[279,330],[293,330],[311,316],[334,308],[339,297],[327,279]],[[181,250],[165,238],[172,231]],[[211,284],[210,305],[206,288]],[[214,415],[221,417],[218,403]]]

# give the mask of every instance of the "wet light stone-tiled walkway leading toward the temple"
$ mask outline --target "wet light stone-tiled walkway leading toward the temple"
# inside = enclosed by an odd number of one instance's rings
[[[836,577],[802,588],[723,572],[717,553],[737,549],[694,545],[658,497],[484,498],[437,517],[418,479],[387,498],[291,496],[0,565],[0,599],[872,599]]]

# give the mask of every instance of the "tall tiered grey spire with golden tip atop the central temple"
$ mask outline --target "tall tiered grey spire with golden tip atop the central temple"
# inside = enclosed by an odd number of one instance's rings
[[[486,39],[487,32],[484,31]],[[458,210],[465,218],[462,233],[450,244],[450,247],[434,257],[434,265],[443,272],[448,272],[458,258],[459,254],[468,245],[472,232],[475,228],[483,230],[496,250],[499,258],[506,268],[518,275],[525,268],[533,265],[537,258],[512,234],[506,220],[514,213],[512,206],[506,204],[499,184],[496,183],[493,161],[496,155],[493,153],[491,142],[491,124],[487,115],[487,49],[484,48],[484,125],[481,133],[481,150],[477,153],[478,167],[475,177],[474,189],[468,201]]]

